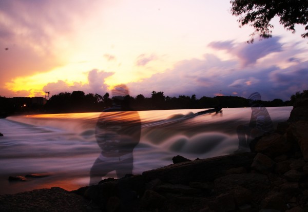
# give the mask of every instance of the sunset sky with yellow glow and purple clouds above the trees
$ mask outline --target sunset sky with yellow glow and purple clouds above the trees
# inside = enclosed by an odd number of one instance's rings
[[[308,89],[308,40],[273,20],[247,44],[230,0],[1,0],[0,95],[163,91],[264,100]]]

